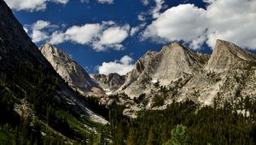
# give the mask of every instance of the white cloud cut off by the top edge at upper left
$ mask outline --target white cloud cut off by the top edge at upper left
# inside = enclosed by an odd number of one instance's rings
[[[47,3],[66,4],[68,0],[4,0],[11,9],[38,11],[46,9]]]

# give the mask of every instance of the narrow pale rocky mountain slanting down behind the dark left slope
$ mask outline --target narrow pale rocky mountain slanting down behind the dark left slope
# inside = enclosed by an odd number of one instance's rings
[[[90,78],[83,67],[72,60],[61,49],[55,48],[51,44],[44,44],[40,47],[44,57],[49,61],[55,71],[60,74],[73,90],[79,91],[84,96],[103,96],[104,91]]]

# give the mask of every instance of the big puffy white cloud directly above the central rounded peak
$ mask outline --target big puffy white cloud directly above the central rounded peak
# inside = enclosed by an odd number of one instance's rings
[[[160,14],[143,32],[143,37],[153,38],[154,41],[191,41],[205,32],[205,19],[204,9],[199,9],[194,4],[181,4]]]

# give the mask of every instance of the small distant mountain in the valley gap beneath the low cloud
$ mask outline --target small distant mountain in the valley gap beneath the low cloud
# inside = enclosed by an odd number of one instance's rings
[[[111,95],[113,91],[125,83],[125,76],[120,76],[118,73],[93,74],[92,78],[106,91],[107,95]]]

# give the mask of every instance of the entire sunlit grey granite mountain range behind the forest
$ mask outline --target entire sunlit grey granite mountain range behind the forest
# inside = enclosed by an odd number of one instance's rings
[[[127,112],[137,112],[142,108],[163,109],[174,100],[182,102],[189,99],[201,105],[212,105],[218,100],[221,106],[225,101],[235,103],[246,96],[256,96],[253,89],[256,87],[256,56],[224,40],[217,40],[212,55],[194,53],[178,43],[166,45],[160,52],[148,51],[126,76],[112,73],[89,77],[84,68],[67,54],[56,48],[55,51],[45,49],[45,46],[54,47],[45,44],[41,51],[74,90],[90,86],[82,90],[84,94],[90,94],[96,87],[94,95],[108,104],[113,102],[111,96],[125,93],[128,99],[118,102],[127,107]],[[71,67],[72,64],[75,67]],[[74,83],[76,80],[80,82]],[[162,93],[159,91],[161,87],[166,89],[165,97],[158,98],[161,103],[155,104],[155,96]],[[134,102],[143,94],[146,104]]]

